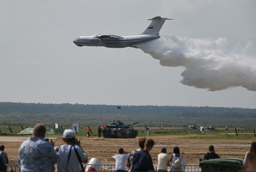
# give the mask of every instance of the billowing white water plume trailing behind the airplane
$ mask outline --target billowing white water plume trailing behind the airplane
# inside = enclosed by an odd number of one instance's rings
[[[197,39],[162,36],[137,47],[160,60],[160,65],[184,67],[184,85],[216,91],[242,86],[256,91],[255,43],[228,38]]]

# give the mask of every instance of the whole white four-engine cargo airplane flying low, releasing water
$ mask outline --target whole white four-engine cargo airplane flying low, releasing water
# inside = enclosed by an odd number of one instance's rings
[[[117,36],[117,35],[93,35],[93,36],[79,36],[73,42],[79,46],[102,46],[108,48],[125,48],[136,47],[136,44],[148,42],[158,39],[159,31],[162,28],[165,20],[172,20],[169,18],[162,18],[160,16],[149,18],[152,20],[151,24],[139,35],[132,36]]]

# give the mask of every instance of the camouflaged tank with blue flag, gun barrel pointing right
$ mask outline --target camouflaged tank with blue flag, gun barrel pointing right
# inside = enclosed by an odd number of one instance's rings
[[[142,121],[139,121],[142,122]],[[127,138],[135,138],[138,135],[138,130],[135,130],[132,125],[139,123],[135,122],[129,125],[125,125],[121,121],[113,122],[110,125],[107,125],[105,129],[103,129],[104,137],[106,138],[119,138],[119,139],[127,139]]]

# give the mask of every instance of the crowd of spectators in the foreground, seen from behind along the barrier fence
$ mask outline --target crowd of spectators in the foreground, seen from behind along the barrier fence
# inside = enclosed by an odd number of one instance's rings
[[[89,132],[88,132],[89,131]],[[80,146],[79,138],[75,132],[66,129],[63,132],[63,145],[54,147],[53,140],[45,139],[46,128],[43,124],[35,125],[32,137],[24,141],[19,148],[20,171],[84,171],[83,163],[87,162],[87,155]],[[90,130],[87,129],[90,134]],[[88,136],[89,137],[89,136]],[[115,159],[115,171],[155,171],[150,151],[155,142],[153,139],[139,138],[138,149],[127,153],[123,148],[112,156]],[[208,147],[209,152],[204,154],[205,160],[220,158],[215,153],[214,146]],[[156,171],[184,171],[184,155],[180,153],[179,147],[173,148],[173,154],[167,154],[166,148],[162,148],[158,154],[158,165]],[[4,146],[0,146],[0,171],[6,171],[8,156]],[[256,171],[256,141],[253,141],[250,150],[245,154],[243,161],[245,171]]]

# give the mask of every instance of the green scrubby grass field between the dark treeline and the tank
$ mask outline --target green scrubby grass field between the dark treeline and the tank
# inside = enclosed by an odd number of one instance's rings
[[[20,116],[20,117],[19,117]],[[116,115],[114,114],[1,114],[0,125],[35,125],[36,123],[44,123],[53,126],[55,123],[64,126],[71,126],[72,123],[79,123],[79,126],[96,127],[103,124],[108,125],[113,122]],[[143,121],[134,125],[135,127],[182,127],[186,128],[190,124],[196,126],[214,126],[215,128],[254,128],[256,127],[256,118],[188,118],[188,117],[170,117],[170,116],[145,116],[145,115],[118,115],[118,119],[128,125],[137,121]]]

